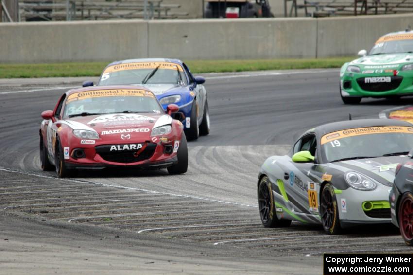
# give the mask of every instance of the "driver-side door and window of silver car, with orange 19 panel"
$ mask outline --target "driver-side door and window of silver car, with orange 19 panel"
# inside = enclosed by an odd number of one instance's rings
[[[293,154],[300,151],[310,151],[315,156],[317,150],[317,138],[314,133],[309,133],[301,137],[293,147]],[[288,189],[294,204],[297,206],[296,211],[312,216],[318,214],[318,183],[313,175],[317,170],[317,164],[296,163],[291,161],[290,171],[285,171],[285,178],[288,179]]]

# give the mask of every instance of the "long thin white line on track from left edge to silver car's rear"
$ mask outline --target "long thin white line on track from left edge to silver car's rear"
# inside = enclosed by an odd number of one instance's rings
[[[106,184],[106,183],[96,183],[96,182],[90,182],[90,181],[84,181],[84,180],[76,180],[76,179],[64,179],[64,178],[62,179],[62,178],[58,178],[58,177],[39,175],[39,174],[36,174],[36,173],[33,173],[33,172],[25,172],[25,171],[13,170],[13,169],[5,168],[5,167],[0,167],[0,171],[6,171],[6,172],[11,172],[11,173],[18,173],[18,174],[23,174],[23,175],[28,175],[28,176],[35,176],[35,177],[46,178],[46,179],[53,179],[53,180],[60,180],[60,181],[67,181],[67,182],[75,182],[75,183],[86,183],[86,184],[93,184],[93,185],[99,185],[99,186],[104,186],[104,187],[112,187],[112,188],[117,188],[117,189],[141,191],[141,192],[147,192],[147,193],[152,193],[152,194],[169,195],[169,196],[174,196],[174,197],[189,198],[189,199],[202,200],[202,201],[207,201],[207,202],[219,202],[219,203],[225,203],[225,204],[233,204],[233,205],[240,205],[240,206],[247,206],[247,207],[258,208],[258,206],[250,205],[250,204],[237,203],[237,202],[225,202],[225,201],[221,201],[221,200],[203,198],[203,197],[192,196],[192,195],[184,195],[184,194],[174,194],[174,193],[167,193],[167,192],[159,192],[159,191],[147,190],[147,189],[141,189],[141,188],[135,188],[135,187],[127,187],[127,186],[121,186],[121,185],[112,185],[112,184]]]

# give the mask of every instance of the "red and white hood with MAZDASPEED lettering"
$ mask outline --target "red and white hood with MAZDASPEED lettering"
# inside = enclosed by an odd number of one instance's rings
[[[172,123],[166,114],[154,113],[113,113],[93,116],[79,116],[60,121],[72,129],[96,131],[101,139],[115,134],[133,133],[150,136],[153,128]]]

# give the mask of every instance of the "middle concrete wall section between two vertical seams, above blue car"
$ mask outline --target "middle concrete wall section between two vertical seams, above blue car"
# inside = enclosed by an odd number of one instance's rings
[[[316,21],[310,18],[152,21],[148,30],[150,57],[315,57]]]

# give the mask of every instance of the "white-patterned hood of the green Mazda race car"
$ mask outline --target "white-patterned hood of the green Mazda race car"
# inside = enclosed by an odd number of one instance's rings
[[[350,65],[357,65],[361,69],[398,69],[400,65],[405,63],[413,63],[413,54],[367,55],[353,60]]]

